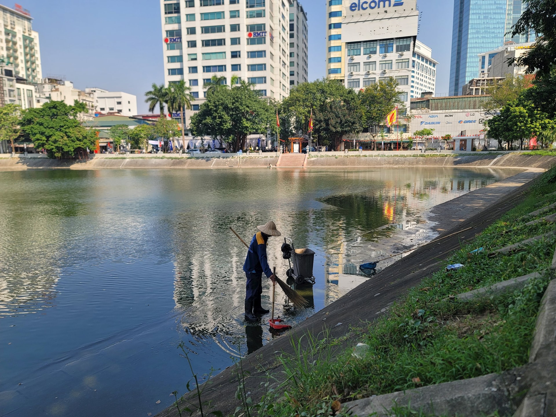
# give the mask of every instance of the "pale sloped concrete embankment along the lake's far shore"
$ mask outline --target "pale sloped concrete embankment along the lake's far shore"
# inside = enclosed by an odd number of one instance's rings
[[[405,152],[317,152],[307,161],[307,168],[356,168],[356,167],[491,167],[491,168],[540,168],[547,169],[556,161],[555,156],[519,153],[430,153]],[[399,155],[399,156],[398,156]],[[178,156],[170,154],[108,156],[96,155],[87,161],[53,160],[44,156],[29,155],[9,157],[0,155],[0,170],[27,169],[102,169],[102,168],[265,168],[275,167],[276,153],[231,156]],[[282,169],[282,168],[280,168]],[[286,168],[291,169],[291,168]]]

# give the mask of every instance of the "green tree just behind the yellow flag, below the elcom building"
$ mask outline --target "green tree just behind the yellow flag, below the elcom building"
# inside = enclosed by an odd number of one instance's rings
[[[379,81],[371,84],[359,91],[359,99],[361,107],[363,107],[363,126],[369,127],[371,132],[378,132],[379,126],[386,124],[386,116],[394,107],[398,106],[400,110],[404,110],[404,102],[400,99],[398,90],[398,82],[394,77],[390,77],[388,81]]]

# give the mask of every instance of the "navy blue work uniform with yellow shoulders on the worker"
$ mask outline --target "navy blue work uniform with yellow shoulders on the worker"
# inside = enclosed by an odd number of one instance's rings
[[[245,258],[244,271],[247,277],[245,284],[245,301],[254,301],[261,296],[262,293],[262,272],[270,278],[272,271],[269,262],[266,259],[266,241],[268,236],[257,232],[247,251]]]

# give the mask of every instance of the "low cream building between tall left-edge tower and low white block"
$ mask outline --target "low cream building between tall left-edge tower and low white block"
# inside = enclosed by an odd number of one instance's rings
[[[41,107],[49,101],[63,101],[68,106],[73,106],[75,100],[87,105],[88,113],[81,114],[81,120],[87,121],[95,118],[95,101],[93,93],[85,92],[73,87],[73,82],[57,80],[55,78],[43,78],[34,86],[35,106]]]

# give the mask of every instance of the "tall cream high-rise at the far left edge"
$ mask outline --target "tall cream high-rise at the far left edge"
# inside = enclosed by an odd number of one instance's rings
[[[33,88],[29,85],[42,78],[38,33],[31,25],[33,18],[17,4],[13,9],[0,4],[0,14],[4,24],[0,31],[0,105],[17,103],[23,108],[33,107]],[[31,96],[27,96],[27,90]]]

